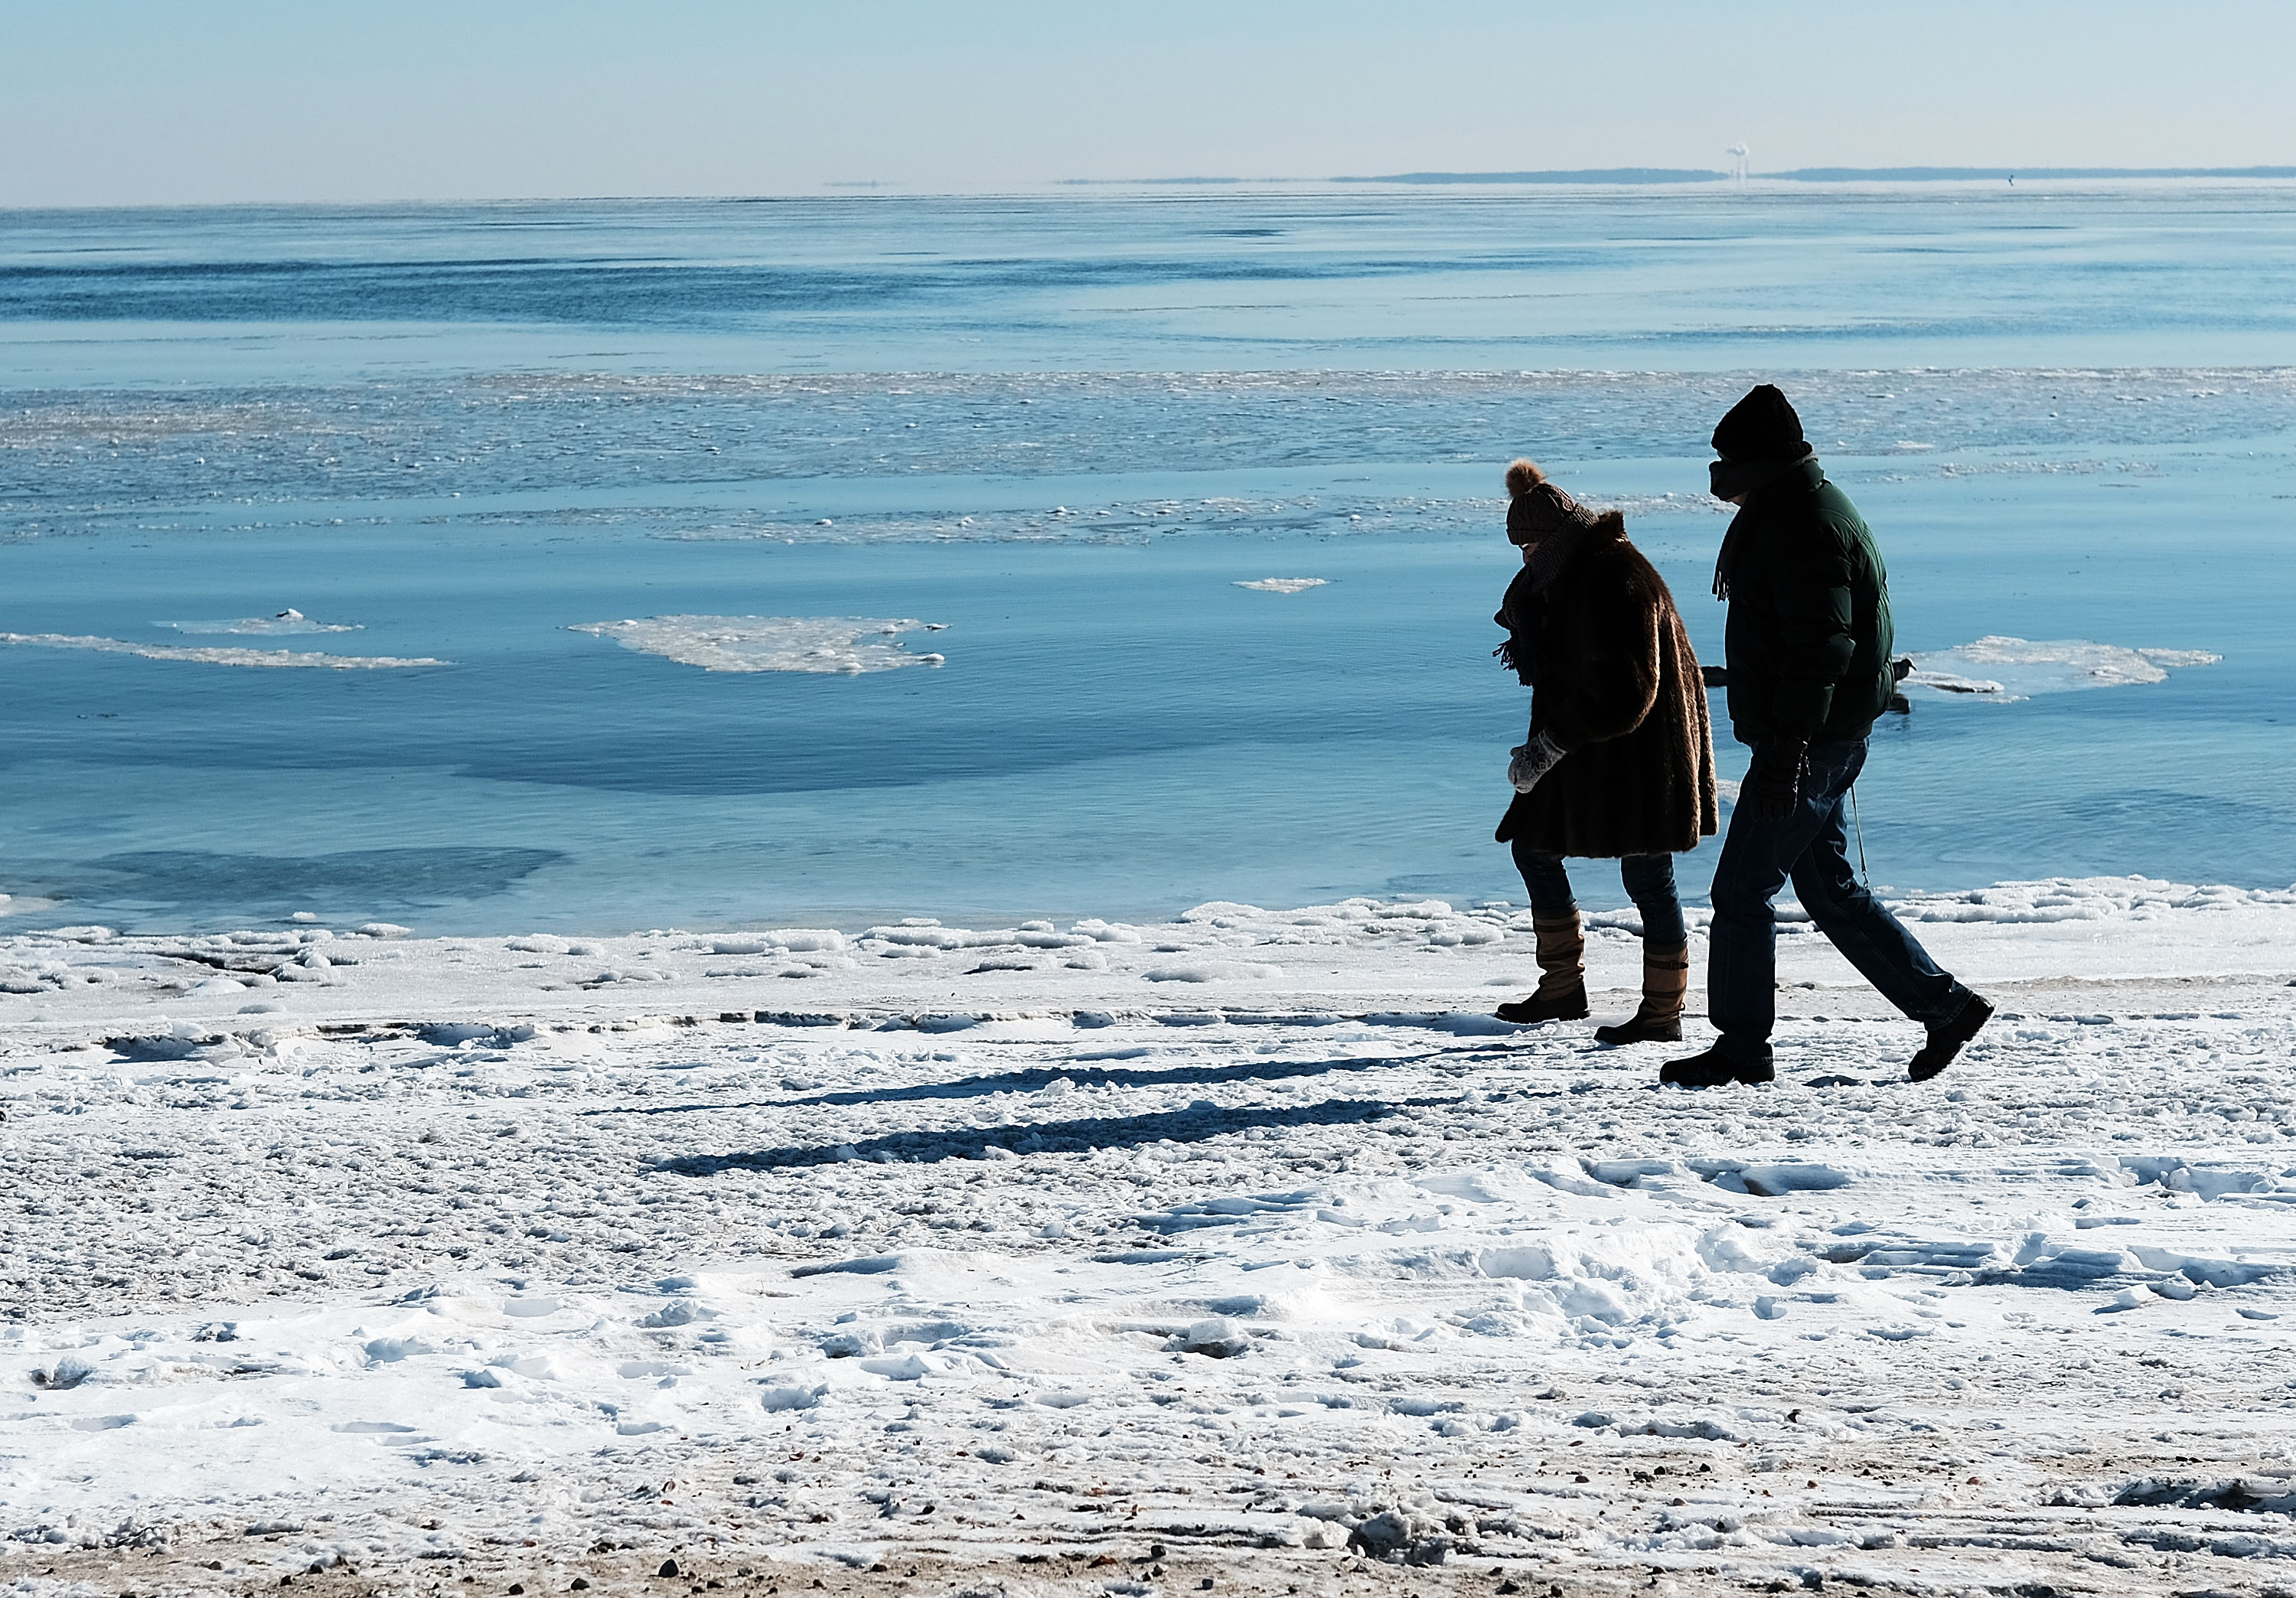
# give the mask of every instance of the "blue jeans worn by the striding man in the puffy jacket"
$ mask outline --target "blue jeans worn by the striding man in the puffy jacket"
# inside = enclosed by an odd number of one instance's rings
[[[1913,934],[1851,872],[1841,808],[1864,769],[1864,739],[1812,744],[1809,781],[1793,813],[1766,820],[1738,804],[1715,863],[1715,921],[1706,953],[1706,1017],[1722,1033],[1715,1045],[1738,1065],[1770,1061],[1777,1024],[1777,923],[1770,900],[1793,882],[1793,895],[1818,932],[1880,990],[1880,996],[1924,1024],[1949,1022],[1970,990],[1938,969]]]

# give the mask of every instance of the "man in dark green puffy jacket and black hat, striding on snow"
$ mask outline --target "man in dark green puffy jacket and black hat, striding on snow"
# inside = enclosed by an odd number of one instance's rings
[[[1713,436],[1717,498],[1738,505],[1715,563],[1729,602],[1729,719],[1754,760],[1731,808],[1713,882],[1706,1015],[1715,1047],[1669,1061],[1660,1081],[1713,1088],[1770,1081],[1777,928],[1770,900],[1793,882],[1818,930],[1908,1017],[1929,1029],[1908,1075],[1945,1070],[1993,1006],[1938,969],[1848,863],[1841,810],[1867,735],[1890,705],[1890,574],[1864,517],[1825,480],[1802,418],[1770,383],[1731,406]]]

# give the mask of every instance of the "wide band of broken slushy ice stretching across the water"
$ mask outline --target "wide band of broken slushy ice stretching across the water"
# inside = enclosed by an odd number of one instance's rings
[[[370,383],[204,386],[156,397],[147,390],[18,393],[9,406],[9,464],[37,498],[0,512],[0,537],[106,528],[140,530],[149,510],[246,496],[262,505],[439,494],[533,491],[533,461],[551,459],[551,482],[629,487],[647,482],[739,482],[792,478],[1097,475],[1201,473],[1297,466],[1456,459],[1463,441],[1490,439],[1504,413],[1543,457],[1589,461],[1676,457],[1713,429],[1745,393],[1740,372],[861,372],[847,377],[732,377],[698,372],[521,372],[409,377]],[[1825,418],[1821,459],[1896,457],[1922,475],[1988,471],[2126,471],[2158,448],[2280,436],[2296,406],[2291,367],[2009,367],[1795,372],[1802,416]],[[758,427],[774,416],[771,427]],[[135,441],[122,471],[115,441]],[[868,448],[854,448],[866,439]],[[452,443],[452,448],[445,448]],[[317,448],[308,448],[317,445]],[[2009,459],[2002,459],[2007,455]],[[420,459],[422,468],[411,471]],[[1499,461],[1490,501],[1474,514],[1497,533]],[[1607,501],[1630,519],[1683,510],[1722,514],[1685,468],[1681,496]],[[1570,484],[1573,491],[1591,484]],[[1068,489],[1063,489],[1068,494]],[[852,519],[882,535],[923,537],[1104,537],[1107,521],[1134,530],[1215,530],[1217,507],[1141,517],[1114,505],[1045,501],[1026,514],[967,505],[934,514]],[[1378,530],[1373,512],[1339,491],[1313,507],[1320,523]],[[670,501],[675,503],[675,501]],[[1605,503],[1605,501],[1598,501]],[[103,512],[76,510],[103,505]],[[1293,503],[1297,514],[1311,507]],[[489,512],[491,514],[491,512]],[[769,526],[673,530],[670,537],[794,537],[850,542],[856,528],[827,512],[765,517]],[[172,512],[170,512],[172,517]],[[276,512],[264,512],[273,519]],[[333,512],[328,512],[333,517]],[[971,517],[971,523],[967,523]],[[326,521],[324,526],[333,526]],[[930,526],[930,530],[928,530]],[[1419,512],[1394,530],[1419,530]]]

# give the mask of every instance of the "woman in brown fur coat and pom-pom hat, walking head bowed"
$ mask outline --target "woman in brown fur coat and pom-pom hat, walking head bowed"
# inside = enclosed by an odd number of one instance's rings
[[[1706,689],[1665,579],[1626,540],[1626,517],[1591,512],[1531,461],[1506,468],[1506,537],[1522,572],[1492,618],[1497,654],[1531,689],[1531,730],[1513,751],[1515,801],[1499,843],[1531,893],[1538,992],[1502,1003],[1508,1022],[1587,1015],[1587,939],[1566,854],[1616,859],[1642,912],[1642,1008],[1603,1042],[1683,1035],[1690,934],[1674,856],[1720,822]]]

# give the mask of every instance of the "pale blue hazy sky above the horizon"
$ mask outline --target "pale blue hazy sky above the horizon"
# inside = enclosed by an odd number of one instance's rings
[[[2296,5],[0,0],[0,207],[2296,165]]]

